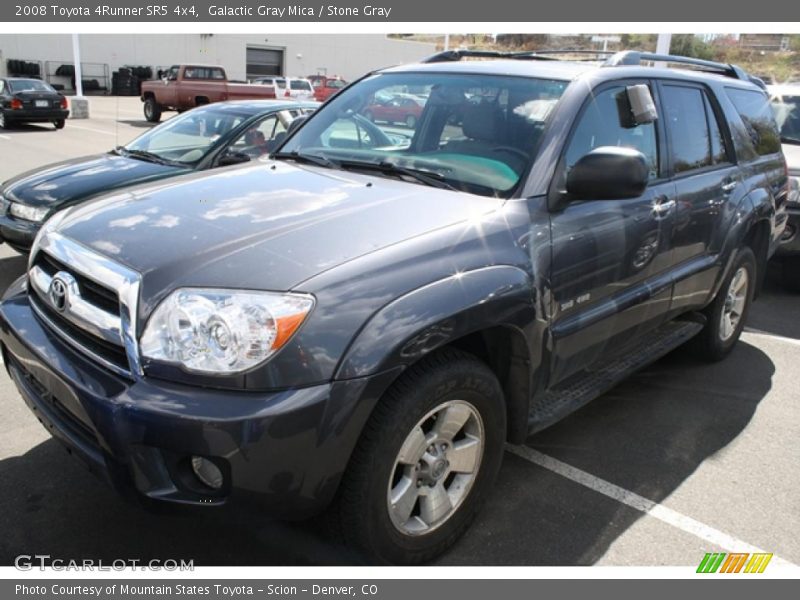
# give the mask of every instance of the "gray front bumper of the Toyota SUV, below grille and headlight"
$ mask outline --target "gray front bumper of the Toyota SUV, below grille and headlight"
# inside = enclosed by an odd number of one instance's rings
[[[41,423],[129,497],[198,506],[257,505],[282,518],[321,512],[392,373],[272,393],[153,379],[129,381],[92,363],[33,313],[24,282],[0,304],[0,351]],[[193,475],[212,460],[217,491]]]

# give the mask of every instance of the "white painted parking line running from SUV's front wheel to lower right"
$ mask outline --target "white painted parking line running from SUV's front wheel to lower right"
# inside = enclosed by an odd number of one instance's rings
[[[631,508],[650,515],[651,517],[655,517],[667,525],[672,525],[681,531],[685,531],[686,533],[694,535],[695,537],[705,540],[715,546],[719,546],[720,548],[724,548],[731,552],[748,552],[750,554],[765,552],[756,546],[752,546],[747,542],[743,542],[742,540],[728,535],[727,533],[719,531],[718,529],[714,529],[705,523],[696,521],[691,517],[687,517],[686,515],[667,508],[666,506],[662,506],[658,502],[648,500],[647,498],[640,496],[635,492],[631,492],[625,488],[619,487],[618,485],[614,485],[610,481],[606,481],[600,477],[595,477],[586,471],[582,471],[581,469],[563,463],[560,460],[543,454],[538,450],[534,450],[533,448],[529,448],[527,446],[508,445],[506,446],[506,449],[515,456],[519,456],[528,462],[532,462],[535,465],[544,467],[545,469],[557,473],[558,475],[561,475],[570,481],[574,481],[575,483],[594,490],[599,494],[608,496],[617,502],[621,502],[626,506],[630,506]],[[781,564],[784,566],[795,566],[782,558],[778,558],[777,556],[772,557],[772,563]]]

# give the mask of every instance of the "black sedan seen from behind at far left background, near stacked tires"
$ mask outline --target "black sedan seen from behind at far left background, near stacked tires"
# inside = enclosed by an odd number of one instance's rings
[[[0,129],[18,123],[52,123],[63,129],[69,117],[67,98],[40,79],[0,79]]]

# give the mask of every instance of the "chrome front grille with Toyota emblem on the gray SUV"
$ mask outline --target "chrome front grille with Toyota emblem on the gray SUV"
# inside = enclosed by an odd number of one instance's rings
[[[55,232],[31,255],[31,306],[71,346],[112,371],[141,374],[135,334],[139,274]]]

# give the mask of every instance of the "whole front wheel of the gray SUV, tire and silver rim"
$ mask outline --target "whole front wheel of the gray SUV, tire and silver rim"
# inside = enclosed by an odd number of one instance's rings
[[[437,422],[452,427],[439,431]],[[505,434],[503,392],[483,362],[452,349],[423,359],[367,422],[330,510],[334,531],[371,563],[432,559],[467,530],[492,491]],[[456,460],[458,473],[449,462]],[[449,506],[437,513],[443,498]]]

